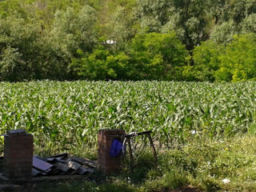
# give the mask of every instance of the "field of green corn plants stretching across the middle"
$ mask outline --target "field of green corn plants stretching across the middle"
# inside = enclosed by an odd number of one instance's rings
[[[47,153],[94,149],[99,129],[153,130],[170,147],[243,134],[255,120],[256,82],[0,83],[0,134],[25,129]]]

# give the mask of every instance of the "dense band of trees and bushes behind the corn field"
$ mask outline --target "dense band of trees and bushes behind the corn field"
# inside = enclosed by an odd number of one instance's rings
[[[255,0],[4,0],[0,80],[244,81],[255,32]]]

